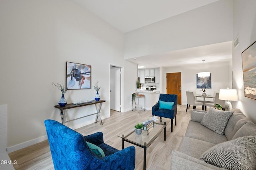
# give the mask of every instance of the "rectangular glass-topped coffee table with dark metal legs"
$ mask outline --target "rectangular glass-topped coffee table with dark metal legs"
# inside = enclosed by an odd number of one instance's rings
[[[164,130],[164,140],[166,140],[166,125],[170,121],[165,119],[159,119],[154,123],[153,130],[147,134],[146,130],[142,130],[140,135],[135,134],[134,128],[125,129],[126,131],[119,134],[118,137],[122,138],[122,149],[124,149],[124,141],[140,146],[144,148],[144,164],[143,170],[146,170],[146,151],[152,142],[157,138],[157,136]]]

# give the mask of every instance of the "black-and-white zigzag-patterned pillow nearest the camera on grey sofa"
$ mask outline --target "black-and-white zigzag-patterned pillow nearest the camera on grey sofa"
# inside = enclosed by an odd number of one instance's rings
[[[245,136],[217,144],[204,152],[200,160],[230,170],[256,169],[256,136]]]

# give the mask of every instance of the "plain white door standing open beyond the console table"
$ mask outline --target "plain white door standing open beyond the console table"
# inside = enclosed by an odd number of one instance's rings
[[[110,109],[121,111],[121,68],[110,68]]]

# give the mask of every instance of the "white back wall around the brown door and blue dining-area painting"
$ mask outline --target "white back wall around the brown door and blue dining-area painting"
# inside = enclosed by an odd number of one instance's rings
[[[207,94],[214,94],[214,91],[232,88],[232,61],[222,63],[205,63],[204,67],[198,65],[183,65],[181,67],[162,67],[162,92],[166,93],[166,73],[181,72],[182,83],[182,105],[187,104],[186,91],[196,91],[202,94],[201,89],[196,89],[196,74],[201,71],[210,71],[212,80],[212,89],[207,89]]]

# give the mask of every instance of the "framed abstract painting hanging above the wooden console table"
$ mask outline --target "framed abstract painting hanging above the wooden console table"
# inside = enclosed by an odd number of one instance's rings
[[[90,89],[91,66],[66,62],[66,89]]]

